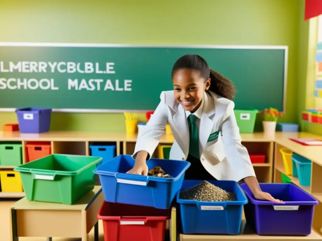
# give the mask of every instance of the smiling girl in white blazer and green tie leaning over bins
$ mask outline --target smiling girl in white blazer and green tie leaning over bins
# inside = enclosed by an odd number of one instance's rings
[[[246,147],[242,146],[233,112],[235,87],[209,68],[204,58],[188,54],[172,69],[174,90],[163,91],[160,103],[135,145],[130,174],[147,175],[147,160],[156,149],[166,124],[175,138],[171,160],[191,163],[188,180],[244,181],[259,200],[281,202],[260,189]]]

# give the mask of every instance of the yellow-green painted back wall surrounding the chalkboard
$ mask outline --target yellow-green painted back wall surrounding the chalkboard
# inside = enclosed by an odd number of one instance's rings
[[[288,45],[281,121],[298,121],[298,0],[45,2],[1,1],[0,41]],[[0,128],[14,121],[14,113],[0,113]],[[54,113],[51,129],[124,131],[123,123],[122,114]]]

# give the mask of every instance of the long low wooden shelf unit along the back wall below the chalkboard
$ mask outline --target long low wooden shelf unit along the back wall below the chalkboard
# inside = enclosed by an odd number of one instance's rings
[[[262,133],[242,134],[242,144],[248,149],[250,154],[265,155],[265,163],[254,163],[255,173],[260,182],[271,183],[273,172],[273,139],[263,136]],[[40,134],[25,134],[20,132],[0,132],[0,143],[7,141],[20,141],[22,143],[23,163],[26,163],[25,145],[31,141],[50,142],[53,154],[75,154],[90,155],[90,144],[93,142],[114,142],[116,143],[116,154],[133,154],[137,134],[128,135],[126,133],[109,132],[47,132]],[[174,137],[170,134],[164,134],[160,139],[159,145],[171,145]],[[158,158],[158,148],[155,151],[155,157]],[[3,166],[0,168],[8,168]],[[9,166],[13,169],[14,166]],[[24,193],[1,193],[1,197],[20,198]]]

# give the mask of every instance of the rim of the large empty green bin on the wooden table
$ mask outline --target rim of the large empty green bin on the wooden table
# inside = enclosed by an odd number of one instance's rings
[[[83,155],[64,155],[64,154],[51,154],[48,156],[72,156],[72,157],[81,157],[81,158],[97,158],[95,161],[91,162],[90,164],[87,164],[86,166],[83,166],[81,169],[78,169],[77,171],[74,172],[68,172],[68,171],[53,171],[53,170],[44,170],[44,169],[37,169],[37,168],[26,168],[24,167],[25,165],[28,165],[28,163],[24,163],[20,166],[17,166],[14,168],[14,171],[16,172],[29,172],[29,173],[33,173],[33,174],[40,174],[40,175],[64,175],[64,176],[74,176],[77,175],[79,173],[81,173],[83,170],[91,167],[92,165],[95,165],[97,163],[99,163],[100,161],[103,160],[102,157],[99,156],[83,156]],[[45,157],[48,157],[45,156]],[[38,159],[41,160],[42,158]],[[36,160],[35,160],[36,161]]]

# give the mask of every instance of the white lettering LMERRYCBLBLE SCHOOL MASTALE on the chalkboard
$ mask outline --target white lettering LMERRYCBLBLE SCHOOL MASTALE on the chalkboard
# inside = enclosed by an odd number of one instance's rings
[[[124,79],[112,79],[112,78],[99,78],[97,75],[110,75],[115,74],[115,63],[107,62],[104,64],[99,63],[75,63],[75,62],[35,62],[35,61],[9,61],[5,63],[0,61],[0,90],[1,89],[41,89],[41,90],[59,90],[62,87],[61,82],[66,83],[68,90],[88,90],[88,91],[132,91],[132,80]],[[28,78],[10,76],[13,73],[46,73],[42,74],[41,78]],[[62,79],[60,78],[60,84],[55,83],[55,79],[50,76],[50,73],[62,73],[62,74],[75,74],[90,76],[86,78],[76,78],[75,76]],[[3,75],[9,76],[4,78]],[[29,75],[29,74],[28,74]],[[48,75],[48,76],[47,76]],[[35,76],[36,77],[36,76]],[[85,77],[85,78],[84,78]]]

